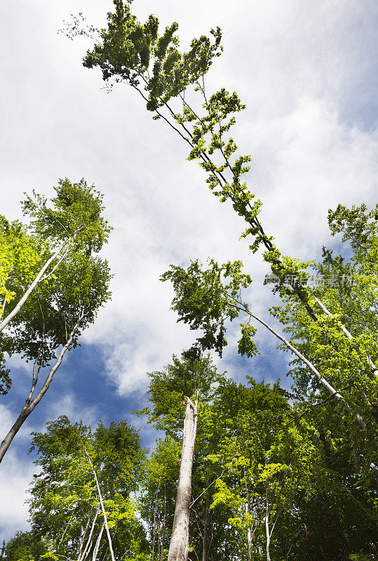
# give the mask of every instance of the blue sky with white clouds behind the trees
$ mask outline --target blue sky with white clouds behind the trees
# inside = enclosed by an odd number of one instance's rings
[[[0,8],[0,212],[20,218],[33,188],[53,195],[60,177],[85,177],[104,194],[114,227],[103,256],[114,279],[112,302],[65,358],[48,393],[0,466],[0,539],[27,529],[26,489],[36,473],[27,454],[30,433],[66,414],[97,424],[128,418],[144,445],[154,433],[131,414],[146,403],[147,372],[180,355],[195,334],[170,311],[173,292],[158,279],[171,263],[213,257],[242,259],[254,279],[252,309],[272,321],[277,304],[262,285],[261,255],[240,241],[243,222],[205,184],[187,147],[125,85],[107,93],[98,70],[83,68],[87,39],[59,34],[82,12],[97,27],[111,0],[3,0]],[[262,199],[261,221],[286,255],[320,257],[331,247],[328,208],[366,203],[377,194],[377,21],[374,0],[135,0],[162,26],[177,21],[183,48],[220,25],[224,53],[208,76],[209,90],[236,90],[246,109],[233,131],[252,156],[247,180]],[[285,381],[288,356],[259,329],[262,356],[238,358],[236,329],[220,370],[243,380]],[[11,362],[13,388],[0,401],[4,435],[29,386],[29,367]]]

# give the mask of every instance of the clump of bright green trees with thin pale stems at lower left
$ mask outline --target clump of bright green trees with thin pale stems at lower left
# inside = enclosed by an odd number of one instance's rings
[[[49,543],[50,556],[96,556],[144,560],[147,540],[132,494],[144,451],[140,436],[126,421],[100,422],[92,432],[82,423],[60,417],[46,433],[33,433],[38,454],[30,489],[32,535]],[[109,530],[110,539],[107,539]]]

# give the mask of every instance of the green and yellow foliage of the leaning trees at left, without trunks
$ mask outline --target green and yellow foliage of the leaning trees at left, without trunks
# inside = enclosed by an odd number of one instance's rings
[[[109,266],[96,254],[106,243],[110,231],[102,217],[102,195],[84,180],[72,183],[60,180],[56,196],[48,206],[46,198],[27,196],[22,208],[31,218],[27,226],[0,220],[1,288],[3,316],[31,285],[48,259],[62,248],[38,283],[32,295],[1,334],[1,351],[20,353],[26,360],[48,365],[56,349],[67,340],[82,312],[82,330],[93,323],[97,310],[110,297]],[[1,292],[2,290],[2,292]],[[6,389],[10,381],[4,381]],[[3,389],[3,392],[5,390]]]

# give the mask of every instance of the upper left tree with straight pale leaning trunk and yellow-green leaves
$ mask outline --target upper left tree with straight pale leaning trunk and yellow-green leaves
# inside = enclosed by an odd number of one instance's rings
[[[102,196],[84,180],[71,184],[67,177],[55,187],[53,208],[33,191],[23,203],[29,227],[0,217],[0,297],[4,298],[0,332],[15,318],[35,288],[53,274],[70,252],[98,252],[109,234],[101,217]],[[14,301],[16,304],[14,304]]]

